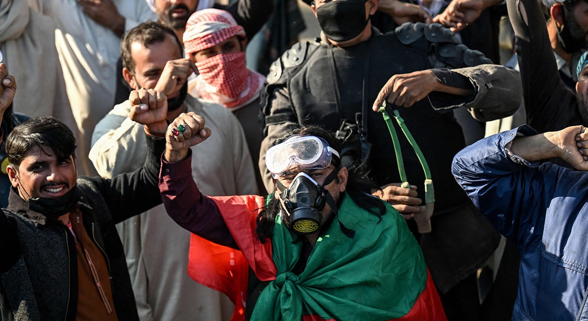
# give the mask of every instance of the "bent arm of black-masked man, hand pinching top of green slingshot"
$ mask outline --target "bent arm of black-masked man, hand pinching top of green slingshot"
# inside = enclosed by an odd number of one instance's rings
[[[415,32],[423,35],[411,38]],[[425,33],[435,33],[437,40],[429,40]],[[481,52],[460,44],[438,23],[406,23],[396,28],[395,35],[406,46],[430,48],[429,68],[392,75],[373,102],[374,111],[384,100],[411,107],[428,98],[436,110],[466,107],[476,119],[487,121],[510,116],[519,108],[522,87],[518,72],[492,65]]]

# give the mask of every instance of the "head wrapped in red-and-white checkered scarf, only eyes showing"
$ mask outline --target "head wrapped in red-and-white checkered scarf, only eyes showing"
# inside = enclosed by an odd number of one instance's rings
[[[196,67],[198,95],[226,107],[240,107],[258,97],[265,78],[245,65],[245,31],[229,12],[195,12],[183,34],[185,52]]]

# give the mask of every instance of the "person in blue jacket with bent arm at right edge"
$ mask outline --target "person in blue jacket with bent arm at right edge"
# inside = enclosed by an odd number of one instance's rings
[[[559,157],[575,170],[541,161]],[[457,183],[516,242],[513,320],[587,320],[588,128],[529,126],[480,140],[453,160]]]

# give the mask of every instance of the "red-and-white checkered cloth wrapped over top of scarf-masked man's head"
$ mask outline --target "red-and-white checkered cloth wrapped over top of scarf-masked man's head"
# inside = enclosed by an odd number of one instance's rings
[[[245,29],[239,26],[229,12],[219,9],[204,9],[192,13],[183,35],[186,56],[231,38],[245,36]]]

